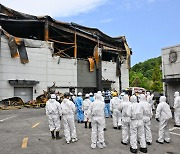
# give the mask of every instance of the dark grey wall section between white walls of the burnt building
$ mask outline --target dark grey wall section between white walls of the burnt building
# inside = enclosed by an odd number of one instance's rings
[[[96,66],[94,72],[90,72],[88,61],[77,60],[77,86],[96,87]]]

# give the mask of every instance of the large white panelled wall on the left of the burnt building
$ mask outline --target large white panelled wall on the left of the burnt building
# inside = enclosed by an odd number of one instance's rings
[[[52,57],[47,42],[36,40],[34,43],[41,44],[41,47],[26,47],[29,63],[22,64],[19,57],[11,58],[8,40],[1,37],[0,100],[14,96],[14,86],[8,80],[39,81],[39,84],[33,86],[33,99],[51,87],[53,82],[61,87],[77,86],[76,59],[61,58],[58,64],[59,57]],[[35,89],[37,93],[34,93]]]

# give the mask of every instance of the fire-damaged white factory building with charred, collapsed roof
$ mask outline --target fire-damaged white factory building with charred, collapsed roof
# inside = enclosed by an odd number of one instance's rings
[[[129,87],[124,36],[32,16],[0,4],[0,101],[35,100],[43,91],[96,92]]]

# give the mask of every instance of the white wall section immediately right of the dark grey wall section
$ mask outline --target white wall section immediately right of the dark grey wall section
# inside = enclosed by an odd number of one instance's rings
[[[102,80],[115,81],[111,84],[112,89],[119,91],[119,76],[116,76],[116,63],[102,61]]]

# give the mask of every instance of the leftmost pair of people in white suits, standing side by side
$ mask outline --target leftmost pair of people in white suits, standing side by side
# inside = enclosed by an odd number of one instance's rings
[[[61,127],[60,117],[62,117],[64,136],[67,144],[78,140],[74,122],[74,113],[76,108],[74,103],[70,101],[69,96],[69,93],[64,93],[64,99],[60,104],[56,101],[56,95],[51,94],[51,98],[46,103],[46,115],[48,116],[49,129],[51,131],[52,139],[61,138],[59,136],[59,130]]]

